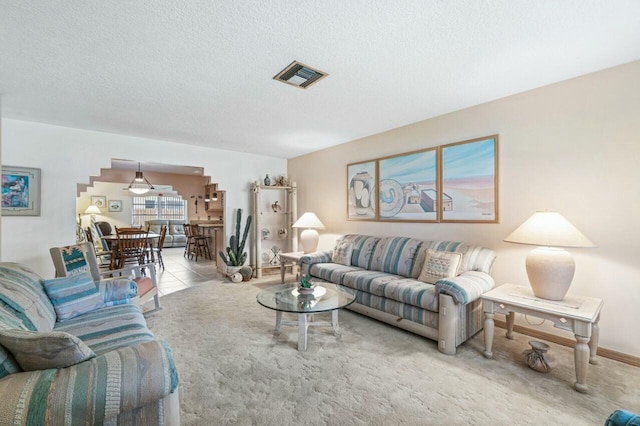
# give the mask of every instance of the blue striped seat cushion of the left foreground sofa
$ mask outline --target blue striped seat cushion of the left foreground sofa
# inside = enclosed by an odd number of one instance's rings
[[[55,330],[79,337],[97,355],[154,339],[136,305],[117,305],[56,324]]]

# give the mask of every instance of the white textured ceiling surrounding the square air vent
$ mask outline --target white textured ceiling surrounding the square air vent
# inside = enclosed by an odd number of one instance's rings
[[[0,0],[4,117],[282,158],[638,59],[637,0]]]

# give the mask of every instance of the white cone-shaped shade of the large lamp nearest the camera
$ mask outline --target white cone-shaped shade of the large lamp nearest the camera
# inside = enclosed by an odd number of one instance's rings
[[[557,212],[535,212],[504,241],[546,247],[595,247]]]

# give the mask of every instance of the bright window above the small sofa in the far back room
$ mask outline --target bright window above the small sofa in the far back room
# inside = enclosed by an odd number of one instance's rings
[[[187,203],[181,197],[135,195],[131,197],[131,224],[144,226],[151,219],[186,221]]]

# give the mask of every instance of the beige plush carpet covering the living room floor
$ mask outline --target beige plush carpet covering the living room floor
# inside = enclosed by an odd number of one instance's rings
[[[640,369],[600,358],[590,391],[573,390],[571,349],[550,344],[549,374],[523,364],[531,338],[496,329],[494,359],[482,333],[458,349],[351,311],[342,336],[311,328],[273,335],[275,312],[255,301],[268,285],[209,282],[162,298],[148,318],[180,373],[184,425],[602,425],[615,409],[640,411]]]

